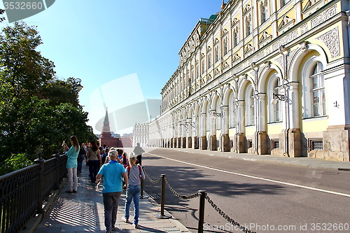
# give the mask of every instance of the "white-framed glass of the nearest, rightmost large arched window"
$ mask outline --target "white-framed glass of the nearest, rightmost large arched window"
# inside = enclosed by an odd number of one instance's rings
[[[323,65],[321,62],[317,62],[312,69],[310,76],[310,96],[311,96],[311,108],[313,116],[325,115],[325,85],[324,76],[321,73]]]

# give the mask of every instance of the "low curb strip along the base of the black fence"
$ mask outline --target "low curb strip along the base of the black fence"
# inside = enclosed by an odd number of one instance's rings
[[[64,184],[66,183],[68,179],[64,178],[63,181],[59,184],[57,190],[54,190],[51,197],[49,197],[48,202],[46,202],[45,206],[43,207],[44,212],[38,213],[34,217],[31,217],[27,223],[25,224],[25,227],[23,227],[22,230],[19,231],[19,233],[34,233],[38,225],[41,223],[43,218],[45,218],[46,213],[48,213],[48,210],[50,209],[51,205],[55,202],[55,199],[58,197],[59,192],[61,192]]]

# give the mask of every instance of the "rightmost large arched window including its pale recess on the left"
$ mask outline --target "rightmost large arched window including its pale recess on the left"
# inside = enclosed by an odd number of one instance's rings
[[[325,84],[322,71],[323,64],[317,60],[317,57],[311,57],[306,62],[302,71],[302,110],[304,118],[327,115],[325,107]]]

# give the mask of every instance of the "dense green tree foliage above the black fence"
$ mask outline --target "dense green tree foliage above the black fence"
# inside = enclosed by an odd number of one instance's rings
[[[32,160],[38,148],[50,157],[71,135],[95,139],[75,79],[55,78],[53,62],[36,51],[41,43],[36,27],[24,22],[0,34],[0,174],[5,164],[27,164],[20,158]]]

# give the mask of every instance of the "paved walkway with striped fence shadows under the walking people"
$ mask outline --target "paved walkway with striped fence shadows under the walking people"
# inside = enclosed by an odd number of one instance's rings
[[[77,193],[66,193],[65,191],[69,189],[68,182],[64,184],[47,215],[36,228],[35,233],[105,232],[102,185],[96,191],[90,182],[88,173],[87,166],[83,165],[83,173],[78,174]],[[160,213],[160,206],[153,199],[141,199],[140,229],[135,229],[131,223],[124,223],[121,220],[124,216],[124,204],[125,193],[119,200],[116,230],[114,232],[190,232],[174,218],[154,218],[154,215]],[[133,215],[132,207],[130,209],[131,222]]]

